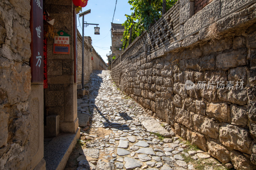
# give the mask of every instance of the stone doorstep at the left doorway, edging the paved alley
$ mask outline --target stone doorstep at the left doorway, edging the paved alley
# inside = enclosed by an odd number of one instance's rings
[[[77,128],[75,134],[61,133],[46,144],[44,147],[46,170],[64,169],[79,137],[80,129]]]

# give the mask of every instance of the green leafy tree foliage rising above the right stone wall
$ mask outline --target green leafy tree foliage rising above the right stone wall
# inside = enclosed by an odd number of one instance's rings
[[[166,0],[166,11],[168,11],[177,0]],[[162,16],[163,0],[129,0],[132,5],[131,15],[126,15],[127,20],[122,24],[124,26],[123,48],[128,46],[129,37],[132,41],[140,36],[145,30],[148,30],[150,24],[155,23]],[[132,27],[132,35],[130,28]]]

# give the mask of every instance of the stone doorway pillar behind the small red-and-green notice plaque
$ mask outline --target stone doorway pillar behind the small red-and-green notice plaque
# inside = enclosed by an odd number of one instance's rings
[[[44,1],[44,8],[55,18],[54,31],[60,30],[70,36],[70,54],[53,54],[54,40],[47,40],[48,88],[45,89],[46,116],[60,116],[60,133],[75,133],[77,119],[77,86],[74,83],[74,26],[73,4],[65,0]],[[76,29],[76,28],[75,28]],[[47,127],[47,124],[46,124]],[[48,128],[48,127],[47,127]]]

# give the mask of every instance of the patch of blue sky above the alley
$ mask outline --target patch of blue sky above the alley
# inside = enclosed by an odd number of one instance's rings
[[[91,13],[84,16],[84,21],[91,24],[99,24],[100,35],[94,35],[94,25],[84,27],[84,35],[92,37],[92,45],[99,55],[106,63],[106,54],[110,51],[111,46],[111,22],[115,10],[116,0],[88,0],[86,7],[82,11],[91,9]],[[113,23],[122,24],[126,20],[124,14],[131,14],[132,6],[128,4],[128,0],[118,0],[116,4],[116,12]],[[78,20],[77,16],[77,29],[82,35],[82,17]],[[81,25],[81,27],[80,27]]]

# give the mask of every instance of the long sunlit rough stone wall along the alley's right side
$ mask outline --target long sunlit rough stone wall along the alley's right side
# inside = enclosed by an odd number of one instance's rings
[[[178,1],[116,58],[111,72],[120,89],[148,114],[170,123],[179,136],[236,169],[256,168],[256,5],[200,28],[246,2],[213,0],[193,15],[190,1]],[[166,29],[165,19],[173,10],[179,18],[176,39],[154,46],[152,40],[161,40],[156,30]],[[187,80],[194,88],[185,88]],[[243,81],[243,89],[235,88],[236,81]],[[208,82],[213,83],[210,88]],[[228,84],[234,84],[233,89],[226,88]]]

